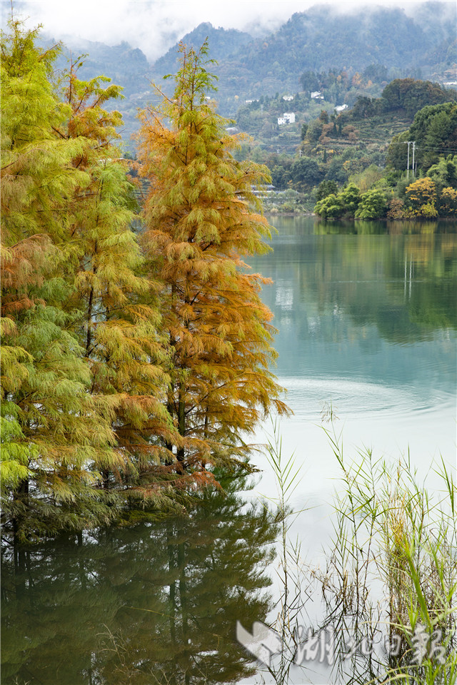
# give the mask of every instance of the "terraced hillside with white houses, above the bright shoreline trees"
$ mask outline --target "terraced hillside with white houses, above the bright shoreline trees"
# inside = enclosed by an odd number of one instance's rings
[[[308,82],[310,74],[305,74]],[[349,99],[353,94],[363,92],[363,87],[366,91],[381,88],[371,80],[368,80],[371,85],[367,86],[368,76],[364,74],[358,79],[356,88],[344,73],[337,75],[330,71],[313,74],[313,78],[323,83],[325,76],[326,83],[333,81]],[[333,85],[329,90],[332,88]],[[265,96],[238,110],[238,128],[253,138],[243,146],[241,155],[266,163],[273,185],[279,189],[292,185],[296,190],[309,190],[324,178],[343,184],[351,174],[363,171],[370,163],[384,166],[392,139],[396,141],[395,136],[401,136],[399,140],[406,140],[405,131],[422,108],[445,106],[444,103],[456,100],[457,91],[453,88],[413,78],[391,81],[378,98],[356,96],[353,107],[343,111],[338,111],[326,99],[310,99],[307,91],[287,102],[281,96]],[[293,111],[295,122],[279,126],[278,114],[286,107]],[[436,139],[437,136],[441,136],[441,152],[453,153],[456,146],[448,128],[443,127],[436,133]],[[447,146],[446,136],[450,136]],[[406,168],[406,146],[401,146],[398,155],[401,156],[401,168]]]

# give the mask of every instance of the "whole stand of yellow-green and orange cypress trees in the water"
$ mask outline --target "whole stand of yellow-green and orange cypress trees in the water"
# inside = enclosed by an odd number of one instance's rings
[[[206,45],[183,52],[171,128],[144,113],[139,245],[121,116],[105,109],[121,88],[79,80],[78,60],[54,83],[59,46],[36,38],[12,20],[1,42],[1,469],[19,540],[181,510],[215,484],[208,465],[239,465],[241,431],[286,411],[263,280],[241,259],[267,250],[251,205],[268,177],[231,156]]]

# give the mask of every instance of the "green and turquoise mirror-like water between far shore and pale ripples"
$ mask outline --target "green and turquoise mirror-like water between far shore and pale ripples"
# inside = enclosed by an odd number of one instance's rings
[[[457,223],[274,223],[273,253],[251,267],[273,280],[262,298],[279,330],[280,377],[451,387]],[[354,233],[365,225],[371,233]]]

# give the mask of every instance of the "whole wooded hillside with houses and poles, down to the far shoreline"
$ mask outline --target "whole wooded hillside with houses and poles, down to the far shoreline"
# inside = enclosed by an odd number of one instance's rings
[[[346,88],[346,97],[353,93],[343,72],[339,81],[332,71],[305,76],[308,83],[311,76],[320,83],[333,80]],[[238,155],[268,166],[273,189],[264,199],[270,211],[353,218],[368,193],[368,206],[356,216],[453,215],[456,101],[455,89],[413,78],[395,79],[380,97],[358,96],[353,108],[343,110],[323,99],[310,101],[306,91],[287,101],[265,96],[238,110],[238,128],[252,136]],[[295,121],[280,125],[278,113],[286,106]],[[413,179],[418,186],[408,188]]]

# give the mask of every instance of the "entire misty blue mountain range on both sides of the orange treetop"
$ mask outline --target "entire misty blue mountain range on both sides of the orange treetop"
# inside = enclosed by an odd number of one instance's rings
[[[326,100],[351,106],[359,95],[378,96],[395,78],[456,81],[455,26],[453,3],[423,3],[413,17],[395,8],[358,7],[355,14],[315,6],[293,14],[261,39],[204,23],[182,40],[198,49],[208,36],[209,54],[218,63],[212,71],[219,77],[219,112],[234,117],[244,101],[276,94],[323,89]],[[113,47],[72,40],[64,54],[89,54],[81,78],[109,73],[124,88],[126,99],[118,106],[124,116],[123,138],[133,151],[130,136],[138,128],[137,108],[151,98],[151,80],[161,83],[164,75],[176,71],[179,49],[176,44],[149,64],[141,50],[131,48],[134,38],[126,35],[125,40],[129,42]],[[59,68],[64,66],[61,59]],[[335,79],[329,81],[328,73]]]

